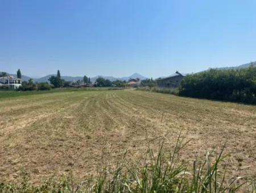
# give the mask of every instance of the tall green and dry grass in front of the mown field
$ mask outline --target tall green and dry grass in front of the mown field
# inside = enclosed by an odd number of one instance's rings
[[[243,181],[242,177],[226,177],[226,169],[220,169],[224,161],[225,145],[215,159],[213,151],[207,152],[205,160],[195,160],[193,165],[180,163],[180,150],[188,141],[179,136],[172,151],[164,150],[164,140],[155,152],[148,146],[142,166],[131,166],[126,153],[121,161],[110,169],[106,157],[102,156],[96,178],[85,179],[79,184],[69,177],[51,178],[35,186],[22,172],[16,184],[0,183],[0,192],[236,192],[255,191],[255,184]]]

